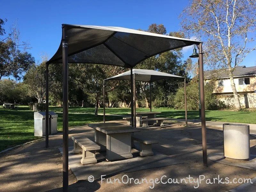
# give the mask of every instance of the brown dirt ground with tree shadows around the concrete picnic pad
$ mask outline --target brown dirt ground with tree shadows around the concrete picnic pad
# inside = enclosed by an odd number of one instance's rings
[[[124,121],[116,121],[125,124]],[[163,177],[166,182],[168,178],[180,181],[181,178],[186,179],[190,175],[193,178],[199,178],[204,175],[205,180],[213,178],[228,177],[230,180],[234,178],[254,178],[255,170],[244,169],[240,167],[224,165],[208,160],[208,167],[204,167],[202,163],[202,140],[201,127],[199,125],[190,124],[184,128],[184,123],[172,122],[171,126],[160,129],[149,129],[143,131],[144,135],[154,137],[159,140],[159,144],[152,145],[153,151],[171,156],[172,158],[184,161],[183,164],[170,165],[160,168],[141,170],[136,172],[121,173],[111,177],[105,177],[114,181],[114,179],[122,180],[124,175],[129,178],[139,179],[145,178],[159,180]],[[94,130],[88,126],[77,128],[69,132],[69,138],[72,134],[86,132],[88,138],[94,138]],[[250,138],[251,154],[256,155],[256,137]],[[12,149],[0,155],[0,191],[62,191],[62,156],[59,147],[62,147],[62,135],[50,137],[49,148],[45,148],[45,141],[39,140],[33,143],[23,145],[19,148]],[[69,146],[73,146],[73,142],[69,139]],[[223,132],[221,128],[207,126],[207,153],[223,152]],[[202,176],[201,176],[202,177]],[[126,178],[126,176],[124,176]],[[206,184],[205,180],[199,184],[185,183],[180,184],[162,184],[153,182],[143,184],[119,184],[107,183],[103,180],[96,179],[94,182],[87,180],[77,181],[76,177],[69,171],[69,191],[227,191],[241,184]],[[223,181],[222,180],[222,181]],[[126,181],[126,180],[125,180]],[[151,180],[152,181],[152,180]],[[151,188],[153,189],[151,189]]]

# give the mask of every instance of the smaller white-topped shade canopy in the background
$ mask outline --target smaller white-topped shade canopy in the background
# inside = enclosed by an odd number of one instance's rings
[[[163,73],[160,71],[148,70],[148,69],[132,69],[132,74],[135,74],[136,81],[143,82],[154,82],[162,79],[171,79],[171,78],[185,78],[177,75],[172,75],[169,73]],[[110,77],[107,80],[131,80],[131,70],[121,73],[119,75]]]

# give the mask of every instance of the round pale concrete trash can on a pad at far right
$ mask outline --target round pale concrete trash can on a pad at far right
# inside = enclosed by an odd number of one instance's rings
[[[250,126],[223,124],[224,156],[236,160],[250,158]]]

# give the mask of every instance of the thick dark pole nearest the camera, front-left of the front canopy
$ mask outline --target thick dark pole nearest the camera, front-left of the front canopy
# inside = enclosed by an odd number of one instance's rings
[[[63,191],[68,191],[68,40],[66,27],[62,27],[63,72]]]

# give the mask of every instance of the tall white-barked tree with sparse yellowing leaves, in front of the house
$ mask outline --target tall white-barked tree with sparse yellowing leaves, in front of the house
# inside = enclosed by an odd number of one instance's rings
[[[253,50],[256,29],[256,2],[254,0],[191,0],[180,14],[183,31],[200,36],[204,41],[205,64],[227,72],[235,98],[235,107],[241,105],[233,79],[233,71]]]

